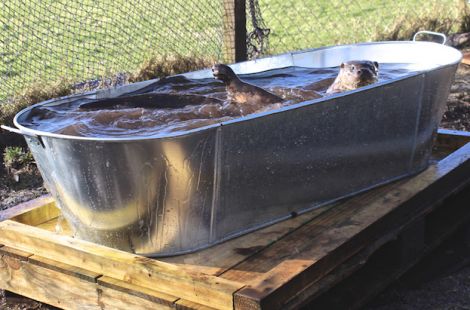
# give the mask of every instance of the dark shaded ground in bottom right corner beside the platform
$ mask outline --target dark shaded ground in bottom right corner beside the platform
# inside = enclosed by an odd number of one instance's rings
[[[468,227],[456,232],[365,307],[397,309],[470,309]]]

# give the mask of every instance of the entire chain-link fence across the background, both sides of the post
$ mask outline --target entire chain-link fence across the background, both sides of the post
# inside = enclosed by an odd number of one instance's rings
[[[456,30],[465,2],[2,0],[0,101],[37,81],[131,72],[154,55],[228,61],[406,37],[409,23]]]

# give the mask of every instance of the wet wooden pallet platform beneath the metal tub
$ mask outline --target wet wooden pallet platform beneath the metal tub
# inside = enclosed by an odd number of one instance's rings
[[[158,260],[71,237],[42,197],[0,213],[0,288],[67,309],[355,308],[469,219],[469,141],[441,130],[419,175]]]

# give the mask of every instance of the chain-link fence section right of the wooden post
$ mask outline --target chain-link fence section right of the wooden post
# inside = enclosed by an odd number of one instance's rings
[[[248,0],[248,52],[258,56],[261,51],[266,55],[335,44],[411,39],[413,32],[426,28],[458,31],[466,2]]]

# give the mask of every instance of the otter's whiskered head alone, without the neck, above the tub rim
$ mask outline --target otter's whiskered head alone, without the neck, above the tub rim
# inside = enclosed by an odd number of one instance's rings
[[[378,81],[379,63],[368,60],[343,62],[339,74],[344,86],[356,89]]]

